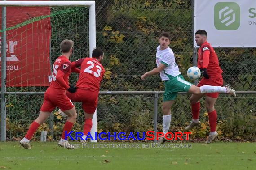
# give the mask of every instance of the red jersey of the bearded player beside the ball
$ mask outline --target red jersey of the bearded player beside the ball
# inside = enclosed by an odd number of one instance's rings
[[[223,72],[214,49],[207,41],[198,50],[197,67],[207,68],[209,77],[218,76]]]

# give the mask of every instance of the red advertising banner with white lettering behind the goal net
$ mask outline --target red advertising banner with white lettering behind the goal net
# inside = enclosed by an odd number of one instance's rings
[[[12,28],[6,31],[6,86],[49,86],[51,23],[43,16],[50,15],[50,8],[7,7],[6,11],[7,29]]]

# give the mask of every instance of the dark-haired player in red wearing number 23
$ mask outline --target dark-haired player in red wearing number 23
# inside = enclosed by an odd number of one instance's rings
[[[79,73],[76,83],[78,89],[73,94],[66,92],[66,95],[73,102],[82,102],[85,120],[83,130],[84,140],[81,140],[81,143],[85,142],[85,138],[93,126],[93,114],[97,108],[100,84],[105,73],[105,69],[101,64],[104,58],[102,49],[95,48],[92,55],[92,58],[82,58],[71,63],[72,71]]]

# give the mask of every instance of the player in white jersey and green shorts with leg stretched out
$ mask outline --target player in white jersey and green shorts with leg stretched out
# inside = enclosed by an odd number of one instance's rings
[[[146,72],[141,76],[142,80],[146,77],[160,73],[162,81],[164,81],[165,91],[163,94],[163,133],[164,135],[169,131],[171,122],[171,107],[177,98],[178,92],[188,92],[192,94],[216,93],[223,92],[235,96],[235,92],[230,87],[203,85],[197,87],[190,82],[185,81],[179,67],[175,62],[172,49],[169,47],[171,36],[167,32],[163,32],[159,36],[160,45],[156,48],[156,65],[153,70]],[[159,144],[165,142],[166,139],[161,137]]]

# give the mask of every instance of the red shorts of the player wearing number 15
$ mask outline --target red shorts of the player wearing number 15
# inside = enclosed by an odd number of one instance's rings
[[[40,111],[52,112],[56,107],[61,110],[70,110],[74,107],[64,90],[48,88],[44,93],[44,102]]]

